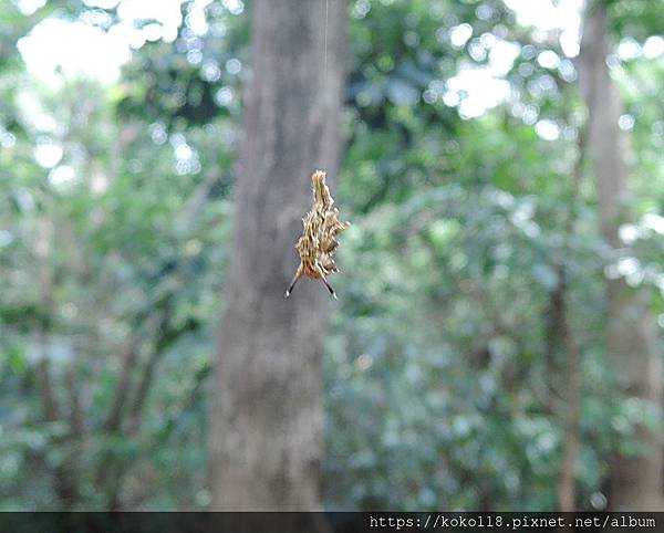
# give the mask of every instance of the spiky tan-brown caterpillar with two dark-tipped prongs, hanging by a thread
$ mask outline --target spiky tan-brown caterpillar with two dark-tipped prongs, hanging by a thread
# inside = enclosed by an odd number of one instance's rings
[[[302,219],[304,229],[302,237],[295,244],[295,249],[300,254],[300,266],[298,266],[284,297],[289,297],[300,278],[307,275],[314,280],[321,280],[330,294],[336,299],[336,293],[328,283],[326,276],[339,272],[332,259],[339,247],[336,233],[350,228],[351,222],[339,221],[339,209],[332,208],[334,199],[325,184],[325,177],[326,174],[323,170],[317,170],[311,176],[313,207]]]

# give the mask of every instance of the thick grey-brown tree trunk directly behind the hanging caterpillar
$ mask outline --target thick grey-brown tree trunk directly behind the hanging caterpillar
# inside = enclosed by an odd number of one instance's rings
[[[295,268],[311,174],[341,149],[345,0],[253,3],[253,77],[237,176],[232,259],[210,437],[214,510],[315,510],[329,294]]]

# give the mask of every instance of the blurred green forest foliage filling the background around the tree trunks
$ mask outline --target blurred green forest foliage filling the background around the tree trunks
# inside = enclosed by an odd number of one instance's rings
[[[135,50],[117,83],[38,83],[15,42],[46,17],[87,20],[87,3],[0,7],[0,510],[204,509],[250,11],[211,2],[197,34],[186,1],[175,42]],[[657,3],[613,2],[616,41],[661,33]],[[660,422],[615,393],[603,282],[645,285],[664,316],[662,58],[613,69],[634,118],[639,215],[615,252],[591,176],[575,176],[583,111],[557,35],[498,0],[349,11],[339,202],[353,227],[325,359],[326,505],[554,509],[564,281],[582,354],[578,504],[601,508],[611,454],[647,452],[635,427]],[[465,116],[450,79],[489,64],[496,40],[516,50],[507,100]],[[547,51],[556,65],[538,61]],[[52,168],[40,146],[62,150]]]

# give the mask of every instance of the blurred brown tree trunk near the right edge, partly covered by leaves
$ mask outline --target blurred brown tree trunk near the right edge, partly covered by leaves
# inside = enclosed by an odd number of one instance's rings
[[[611,81],[606,56],[609,31],[606,2],[591,2],[585,15],[580,83],[589,111],[589,148],[596,176],[602,232],[606,241],[620,248],[619,228],[629,219],[625,200],[627,169],[623,160],[625,139],[618,125],[622,113],[618,88]],[[661,419],[662,368],[657,353],[657,331],[645,295],[624,281],[608,280],[608,348],[621,389],[643,400]],[[647,452],[639,457],[619,456],[612,464],[610,505],[615,510],[662,511],[662,441],[640,426],[639,439]]]

